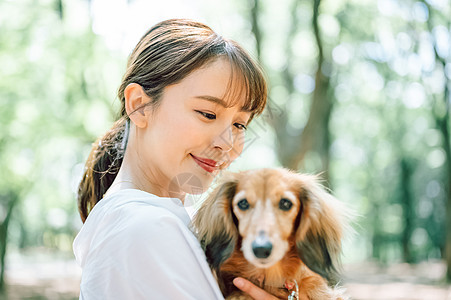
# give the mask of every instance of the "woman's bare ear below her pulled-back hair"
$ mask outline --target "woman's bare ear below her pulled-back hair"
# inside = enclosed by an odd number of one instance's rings
[[[138,128],[145,128],[148,123],[148,112],[146,104],[151,98],[144,92],[142,86],[137,83],[130,83],[124,90],[125,111],[133,124]]]

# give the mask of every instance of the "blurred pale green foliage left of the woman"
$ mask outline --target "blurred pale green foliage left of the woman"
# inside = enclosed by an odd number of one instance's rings
[[[70,252],[82,162],[112,121],[124,57],[92,33],[87,2],[0,1],[0,11],[0,215],[18,201],[9,247]]]

